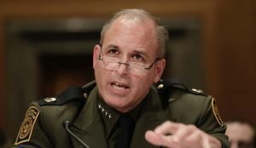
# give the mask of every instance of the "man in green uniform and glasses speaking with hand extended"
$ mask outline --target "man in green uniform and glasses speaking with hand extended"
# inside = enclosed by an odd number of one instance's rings
[[[115,14],[94,47],[96,83],[32,103],[15,145],[229,147],[211,96],[160,81],[167,40],[166,28],[148,12]]]

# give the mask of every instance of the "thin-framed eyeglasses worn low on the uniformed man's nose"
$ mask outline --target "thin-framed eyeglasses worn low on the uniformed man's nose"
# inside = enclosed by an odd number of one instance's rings
[[[109,57],[106,55],[103,56],[102,49],[101,49],[101,53],[99,54],[98,60],[102,60],[102,63],[103,63],[102,66],[110,71],[115,71],[115,70],[119,69],[120,65],[127,65],[128,70],[131,72],[131,74],[145,75],[147,73],[147,71],[151,69],[151,67],[154,65],[154,63],[156,63],[158,60],[160,60],[160,58],[157,58],[156,60],[154,60],[154,62],[151,65],[146,67],[146,65],[144,65],[142,63],[137,63],[137,62],[124,63],[124,62],[121,62],[120,59]]]

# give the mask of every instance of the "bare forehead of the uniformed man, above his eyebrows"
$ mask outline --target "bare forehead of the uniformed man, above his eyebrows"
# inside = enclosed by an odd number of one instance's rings
[[[105,32],[103,44],[156,51],[158,42],[154,22],[149,19],[127,20],[120,17]]]

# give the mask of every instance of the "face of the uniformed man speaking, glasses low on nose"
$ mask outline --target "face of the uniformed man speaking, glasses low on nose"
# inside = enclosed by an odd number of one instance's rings
[[[122,63],[138,62],[148,67],[158,56],[158,43],[154,24],[150,20],[137,22],[119,18],[108,28],[102,48],[94,48],[93,67],[96,83],[103,100],[114,109],[127,112],[137,106],[148,94],[153,83],[159,81],[166,60],[157,61],[144,75],[129,70],[129,65],[121,64],[116,70],[107,70],[98,60],[111,56]]]

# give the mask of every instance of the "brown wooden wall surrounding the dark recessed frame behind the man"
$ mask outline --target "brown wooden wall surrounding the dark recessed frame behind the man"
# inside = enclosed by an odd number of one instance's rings
[[[256,4],[253,0],[148,1],[0,1],[0,126],[4,121],[4,26],[15,19],[108,17],[125,8],[147,9],[158,16],[193,16],[202,20],[202,48],[207,94],[218,100],[224,119],[244,116],[256,123]]]

